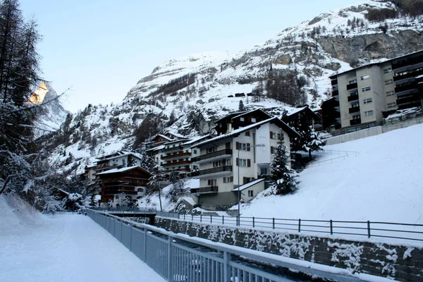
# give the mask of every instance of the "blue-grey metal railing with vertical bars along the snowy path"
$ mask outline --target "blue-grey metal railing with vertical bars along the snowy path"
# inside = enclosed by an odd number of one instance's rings
[[[294,274],[360,281],[346,269],[212,243],[92,209],[85,212],[167,281],[297,281],[281,274],[284,271],[275,271],[281,267],[291,269]]]

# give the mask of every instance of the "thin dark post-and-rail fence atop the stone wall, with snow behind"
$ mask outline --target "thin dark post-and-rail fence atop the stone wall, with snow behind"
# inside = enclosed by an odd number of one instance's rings
[[[238,217],[235,216],[203,216],[192,214],[179,214],[178,219],[221,226],[266,228],[293,231],[295,233],[325,233],[330,235],[353,235],[367,238],[391,238],[423,241],[423,224],[381,221],[277,219],[254,216],[240,216],[238,219]]]

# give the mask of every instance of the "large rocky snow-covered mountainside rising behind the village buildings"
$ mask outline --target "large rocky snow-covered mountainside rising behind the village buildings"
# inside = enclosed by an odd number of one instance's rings
[[[172,130],[194,136],[208,133],[240,101],[274,115],[302,104],[318,109],[330,97],[329,75],[423,49],[423,16],[409,16],[405,8],[362,1],[238,54],[207,52],[168,61],[140,79],[120,104],[89,105],[63,123],[49,141],[51,164],[80,173],[99,155],[135,149],[147,120],[154,121],[149,135]]]

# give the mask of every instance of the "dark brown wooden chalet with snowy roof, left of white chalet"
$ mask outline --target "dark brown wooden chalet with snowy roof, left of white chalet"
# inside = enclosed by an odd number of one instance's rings
[[[151,174],[140,166],[129,166],[97,173],[97,177],[102,183],[100,206],[104,207],[111,203],[113,207],[117,207],[123,201],[119,197],[124,196],[128,200],[135,201],[144,196]]]

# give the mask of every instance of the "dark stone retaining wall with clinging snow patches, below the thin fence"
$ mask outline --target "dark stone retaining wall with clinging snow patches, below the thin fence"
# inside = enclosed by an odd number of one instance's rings
[[[156,217],[155,223],[158,227],[174,233],[336,266],[353,273],[372,274],[397,281],[423,281],[421,247],[231,228],[161,217]]]

